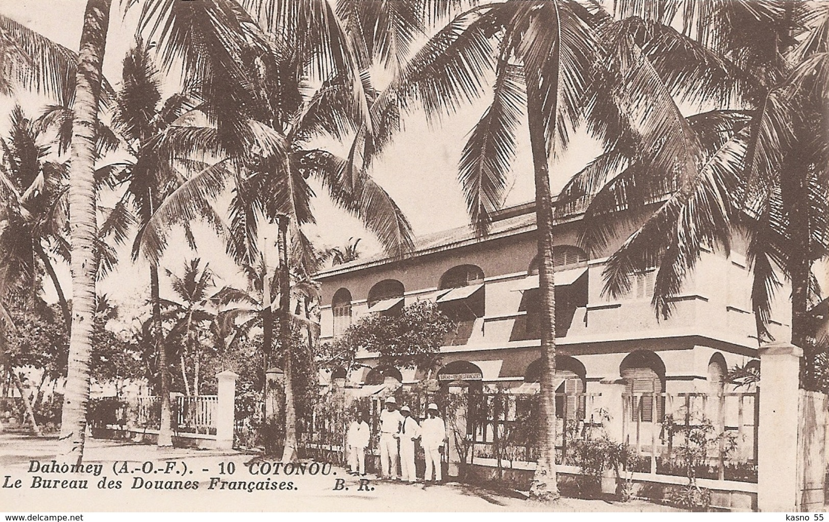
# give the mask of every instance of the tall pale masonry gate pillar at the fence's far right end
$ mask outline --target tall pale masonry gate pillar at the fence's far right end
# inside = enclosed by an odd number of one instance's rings
[[[762,346],[757,456],[757,508],[793,511],[797,500],[797,418],[800,358],[788,342]]]

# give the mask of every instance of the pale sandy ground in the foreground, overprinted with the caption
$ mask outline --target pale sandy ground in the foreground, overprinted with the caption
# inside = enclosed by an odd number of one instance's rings
[[[671,511],[671,508],[641,500],[628,503],[605,500],[561,499],[555,504],[541,505],[516,492],[492,491],[479,486],[449,482],[439,486],[406,485],[376,480],[370,481],[364,490],[355,477],[337,466],[327,475],[253,475],[246,466],[253,458],[250,454],[178,448],[159,449],[100,439],[88,439],[85,449],[85,465],[100,465],[99,476],[95,468],[84,476],[70,473],[29,471],[32,461],[50,464],[57,452],[55,437],[28,437],[26,435],[0,434],[0,506],[7,511]],[[172,462],[168,468],[167,462]],[[260,462],[269,462],[267,459]],[[232,466],[231,466],[232,463]],[[185,468],[185,465],[187,468]],[[234,473],[230,475],[231,467]],[[224,469],[225,474],[221,471]],[[165,472],[168,471],[168,472]],[[308,470],[310,471],[310,470]],[[79,486],[72,480],[86,479],[88,489],[32,488],[35,476],[44,481],[68,481],[59,486]],[[7,478],[8,477],[8,478]],[[138,479],[138,480],[137,480]],[[270,480],[269,480],[270,479]],[[338,482],[338,480],[343,480]],[[13,486],[20,480],[19,488]],[[121,481],[121,489],[99,489],[99,485],[113,486]],[[170,486],[169,481],[198,483],[196,490],[146,490],[135,484],[159,481],[160,486]],[[214,489],[209,489],[213,482]],[[292,490],[229,491],[230,483],[221,489],[221,481],[266,482],[282,484]],[[167,482],[167,484],[164,484]],[[53,484],[52,482],[49,483]],[[234,484],[233,486],[238,486]],[[260,485],[261,487],[261,485]],[[337,489],[337,487],[342,489]]]

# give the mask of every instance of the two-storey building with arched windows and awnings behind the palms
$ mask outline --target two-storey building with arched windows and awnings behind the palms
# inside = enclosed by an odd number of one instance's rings
[[[715,391],[730,367],[757,357],[742,238],[734,237],[729,254],[704,252],[674,298],[671,317],[657,318],[651,304],[655,268],[636,274],[627,295],[602,295],[608,255],[643,215],[619,212],[622,232],[595,256],[577,246],[580,219],[566,216],[554,230],[561,391],[589,393],[608,379],[626,383],[633,393]],[[486,238],[468,227],[446,230],[418,238],[414,252],[402,259],[376,256],[318,273],[322,342],[366,314],[395,313],[429,299],[458,325],[440,349],[439,379],[532,389],[540,375],[537,274],[535,205],[507,208],[495,215]],[[774,307],[771,331],[779,341],[789,337],[788,293],[780,289]],[[371,353],[358,358],[375,365]],[[428,371],[366,368],[351,372],[348,381],[379,384],[392,377],[410,384]]]

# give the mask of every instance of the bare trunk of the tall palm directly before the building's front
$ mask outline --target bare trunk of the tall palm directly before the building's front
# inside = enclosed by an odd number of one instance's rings
[[[536,181],[536,223],[538,234],[538,276],[541,292],[541,392],[538,462],[532,478],[531,497],[555,500],[559,487],[555,476],[555,282],[553,275],[553,210],[550,196],[550,172],[547,166],[544,120],[539,77],[526,69],[526,105],[530,128],[530,146]],[[555,113],[554,113],[555,114]],[[555,125],[553,126],[555,127]]]

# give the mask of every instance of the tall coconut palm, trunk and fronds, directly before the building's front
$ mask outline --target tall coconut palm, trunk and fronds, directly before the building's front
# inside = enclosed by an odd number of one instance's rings
[[[406,108],[416,101],[428,116],[440,118],[451,114],[463,99],[481,95],[487,74],[494,70],[492,104],[470,133],[459,172],[473,224],[480,234],[486,234],[489,216],[502,203],[515,154],[516,129],[526,110],[536,174],[545,326],[541,339],[545,360],[541,414],[550,421],[543,422],[541,465],[536,468],[533,485],[533,493],[538,496],[557,495],[551,406],[554,390],[550,385],[555,372],[555,283],[551,281],[548,157],[567,147],[574,129],[586,124],[607,152],[597,158],[592,170],[586,171],[598,181],[582,173],[574,186],[586,184],[584,178],[602,186],[608,179],[616,179],[611,172],[622,170],[627,176],[618,178],[618,185],[627,192],[620,199],[604,198],[613,211],[628,205],[628,198],[633,200],[630,206],[644,205],[650,194],[663,195],[676,189],[688,198],[703,186],[705,197],[697,201],[697,206],[704,209],[701,213],[707,221],[700,234],[705,237],[725,223],[724,205],[714,197],[717,194],[711,187],[710,174],[701,168],[700,140],[707,144],[718,136],[721,120],[739,119],[739,115],[701,116],[694,129],[674,99],[674,93],[686,82],[696,85],[685,87],[685,92],[691,94],[707,94],[720,88],[709,77],[717,77],[711,73],[712,67],[721,75],[715,68],[718,62],[713,53],[689,45],[686,37],[667,31],[667,26],[656,31],[652,25],[642,27],[633,17],[617,22],[599,5],[583,7],[577,2],[502,2],[474,7],[431,38],[375,104],[379,114],[385,104],[394,102]],[[644,37],[653,32],[659,37]],[[671,49],[680,56],[679,65],[671,68],[673,62],[669,60],[653,60],[652,49],[645,46],[651,40],[658,41],[663,51]],[[570,191],[578,196],[573,186]],[[597,234],[595,239],[603,247],[601,242],[607,236]]]

